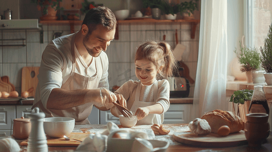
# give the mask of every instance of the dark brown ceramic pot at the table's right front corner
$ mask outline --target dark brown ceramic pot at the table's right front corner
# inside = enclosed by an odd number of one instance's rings
[[[246,117],[245,136],[249,146],[260,146],[270,133],[269,115],[266,113],[249,113]]]

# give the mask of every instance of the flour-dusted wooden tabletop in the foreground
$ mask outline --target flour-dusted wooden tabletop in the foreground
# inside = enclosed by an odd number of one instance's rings
[[[139,131],[142,129],[150,128],[152,125],[136,125],[130,129]],[[118,125],[119,128],[122,128],[122,126]],[[191,145],[182,144],[179,142],[176,142],[173,138],[173,132],[175,131],[186,131],[188,130],[187,124],[164,124],[164,127],[166,129],[170,130],[170,133],[168,135],[156,135],[155,140],[163,140],[168,141],[169,147],[167,148],[167,151],[175,152],[175,151],[271,151],[272,147],[272,135],[270,135],[266,143],[262,144],[259,148],[253,148],[249,147],[248,144],[239,145],[239,146],[233,146],[233,147],[223,147],[223,148],[214,148],[214,147],[196,147]],[[96,132],[96,133],[102,133],[107,129],[106,125],[75,125],[75,128],[73,132]],[[20,143],[22,140],[16,140],[18,143]],[[76,147],[48,147],[48,151],[54,151],[54,152],[61,152],[61,151],[69,151],[72,152],[76,149]],[[21,146],[20,151],[26,151],[26,146]]]

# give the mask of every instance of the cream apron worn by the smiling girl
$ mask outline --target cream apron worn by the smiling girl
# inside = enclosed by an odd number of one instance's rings
[[[153,83],[153,89],[154,89],[154,101],[153,102],[139,101],[141,88],[142,88],[142,83],[139,82],[137,89],[136,89],[135,101],[130,109],[132,112],[136,112],[136,110],[139,107],[146,107],[146,106],[154,105],[157,103],[156,102],[157,98],[158,98],[158,81],[157,80],[155,80],[155,82]],[[163,114],[161,114],[161,115],[163,115]],[[139,120],[137,122],[137,125],[162,124],[163,119],[161,118],[161,115],[149,113],[145,118],[143,118],[142,120]]]

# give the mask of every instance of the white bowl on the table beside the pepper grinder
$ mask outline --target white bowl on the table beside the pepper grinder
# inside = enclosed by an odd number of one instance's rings
[[[50,137],[63,138],[69,135],[75,127],[75,119],[69,117],[44,118],[44,132]]]

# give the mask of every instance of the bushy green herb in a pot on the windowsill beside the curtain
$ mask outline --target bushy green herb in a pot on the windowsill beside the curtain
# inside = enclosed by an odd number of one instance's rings
[[[237,58],[241,64],[240,70],[246,72],[247,82],[252,83],[252,73],[251,70],[256,70],[260,67],[260,55],[256,48],[247,48],[241,45],[240,42],[240,53],[237,52],[235,48],[234,53],[236,53]]]

